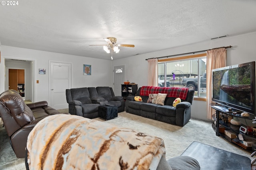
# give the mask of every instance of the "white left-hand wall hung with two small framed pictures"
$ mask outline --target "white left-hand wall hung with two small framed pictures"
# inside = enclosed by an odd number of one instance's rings
[[[72,63],[72,88],[111,86],[112,83],[112,68],[110,60],[65,55],[60,53],[51,53],[2,45],[0,63],[0,92],[5,90],[5,58],[34,60],[34,79],[32,78],[32,80],[34,80],[35,93],[33,102],[42,100],[49,102],[49,61]],[[83,64],[92,65],[92,75],[83,75]],[[39,74],[39,68],[45,68],[46,74]],[[36,80],[39,80],[39,84],[36,84]]]

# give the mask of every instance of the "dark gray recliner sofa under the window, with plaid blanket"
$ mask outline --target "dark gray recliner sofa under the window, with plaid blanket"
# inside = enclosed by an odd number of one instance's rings
[[[140,87],[136,92],[136,96],[140,96],[142,98],[142,102],[136,102],[134,100],[135,96],[128,96],[125,102],[126,112],[172,125],[184,126],[188,123],[191,118],[191,105],[194,99],[194,90],[188,90],[186,98],[182,99],[176,107],[173,107],[173,101],[179,96],[166,97],[163,106],[160,104],[147,103],[148,96],[141,95],[141,88],[142,87]],[[164,87],[156,88],[161,90],[161,88]],[[172,87],[170,87],[170,89],[172,89]],[[182,90],[182,88],[176,88],[175,90],[179,91]]]

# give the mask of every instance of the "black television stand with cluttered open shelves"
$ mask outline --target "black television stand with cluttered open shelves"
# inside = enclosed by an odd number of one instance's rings
[[[237,147],[240,147],[242,149],[247,150],[248,152],[252,153],[255,150],[252,150],[252,147],[248,147],[242,143],[234,139],[236,139],[238,137],[238,134],[240,133],[239,129],[240,126],[245,126],[246,125],[232,125],[231,123],[228,122],[228,117],[238,117],[241,119],[249,119],[252,121],[252,119],[255,119],[254,115],[250,115],[249,117],[242,117],[241,114],[238,111],[229,111],[227,108],[219,106],[219,105],[214,105],[212,106],[213,109],[216,110],[216,125],[215,125],[215,130],[216,130],[216,136],[221,136],[223,138],[225,138],[226,140],[228,140],[230,143],[236,145]],[[242,112],[242,111],[240,111]],[[222,115],[223,117],[226,117],[227,119],[225,119],[225,121],[223,121],[223,119],[220,119],[220,115]],[[225,131],[231,131],[232,133],[236,134],[236,137],[228,137],[227,135],[225,135]],[[243,134],[244,137],[244,141],[255,141],[256,142],[256,138],[254,138],[253,134]]]

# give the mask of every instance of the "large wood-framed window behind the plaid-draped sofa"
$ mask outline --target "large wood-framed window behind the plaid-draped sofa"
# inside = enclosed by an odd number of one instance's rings
[[[206,54],[159,60],[158,86],[188,87],[206,97]]]

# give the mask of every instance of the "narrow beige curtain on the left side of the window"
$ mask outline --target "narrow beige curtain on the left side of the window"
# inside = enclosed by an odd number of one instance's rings
[[[158,59],[148,59],[148,86],[158,86]]]

